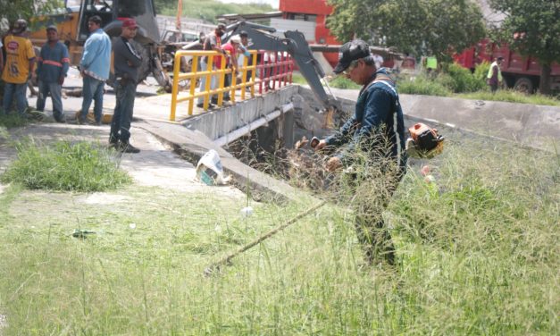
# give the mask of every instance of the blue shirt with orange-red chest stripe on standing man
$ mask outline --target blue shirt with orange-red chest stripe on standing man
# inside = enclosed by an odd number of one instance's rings
[[[41,47],[37,63],[38,80],[46,83],[58,82],[62,77],[66,77],[69,67],[68,47],[62,42],[56,42],[54,46],[47,42]]]

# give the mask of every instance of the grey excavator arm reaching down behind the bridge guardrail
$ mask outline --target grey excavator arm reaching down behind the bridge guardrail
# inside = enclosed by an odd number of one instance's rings
[[[228,26],[226,31],[226,34],[222,37],[224,42],[241,31],[246,31],[248,38],[253,43],[252,49],[288,52],[297,63],[299,71],[307,80],[313,94],[325,109],[340,109],[336,97],[332,94],[328,95],[322,86],[321,79],[325,76],[325,72],[313,57],[304,34],[297,30],[288,30],[283,33],[285,38],[278,38],[272,35],[276,32],[276,29],[247,21],[235,22]]]

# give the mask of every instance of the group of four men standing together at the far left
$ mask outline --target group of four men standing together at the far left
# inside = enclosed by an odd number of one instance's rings
[[[84,45],[79,62],[79,72],[83,80],[83,100],[77,122],[88,122],[89,107],[94,102],[94,122],[101,125],[103,112],[104,83],[109,79],[111,55],[115,75],[115,95],[117,103],[111,121],[109,144],[126,153],[138,153],[139,149],[130,145],[130,122],[134,109],[134,97],[138,82],[138,67],[142,57],[130,43],[136,36],[138,25],[134,19],[123,19],[121,37],[112,44],[109,36],[101,29],[102,20],[92,16],[88,20],[90,35]],[[45,109],[46,97],[53,103],[53,116],[56,122],[66,122],[63,113],[62,86],[67,76],[70,56],[68,47],[59,41],[56,26],[46,27],[46,43],[40,55],[35,55],[33,46],[27,38],[27,21],[17,20],[0,42],[4,47],[0,53],[0,71],[4,80],[3,113],[10,113],[13,100],[21,117],[27,117],[26,97],[28,81],[35,71],[38,79],[37,109]],[[37,67],[35,67],[37,64]]]

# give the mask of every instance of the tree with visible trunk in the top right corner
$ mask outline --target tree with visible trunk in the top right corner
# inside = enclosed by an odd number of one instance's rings
[[[506,14],[498,40],[539,60],[540,92],[549,93],[551,64],[560,63],[560,0],[490,0],[490,6]]]

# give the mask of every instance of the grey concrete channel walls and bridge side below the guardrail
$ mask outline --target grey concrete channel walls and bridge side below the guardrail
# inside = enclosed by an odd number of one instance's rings
[[[357,91],[337,90],[336,94],[343,110],[352,112]],[[554,150],[560,140],[558,107],[412,95],[402,95],[400,99],[407,126],[426,122],[439,129],[460,130],[489,141],[511,141],[539,150]],[[201,113],[180,124],[145,120],[139,126],[193,163],[209,149],[215,149],[221,155],[224,170],[239,188],[251,185],[254,197],[277,199],[295,197],[297,190],[242,164],[222,147],[251,131],[255,131],[259,145],[268,149],[278,139],[291,148],[304,135],[310,139],[332,131],[325,127],[325,113],[313,92],[297,85]]]

